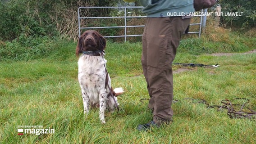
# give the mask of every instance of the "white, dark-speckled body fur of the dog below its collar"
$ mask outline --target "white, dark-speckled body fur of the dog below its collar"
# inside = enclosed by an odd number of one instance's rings
[[[99,117],[101,123],[105,123],[105,109],[108,107],[113,112],[115,109],[114,100],[110,96],[107,98],[110,90],[105,88],[105,58],[103,56],[91,56],[82,54],[78,60],[78,81],[82,90],[84,114],[89,112],[90,104],[99,104]],[[108,81],[111,87],[109,76]],[[117,95],[123,93],[122,88],[114,89]],[[114,97],[117,102],[117,97]]]

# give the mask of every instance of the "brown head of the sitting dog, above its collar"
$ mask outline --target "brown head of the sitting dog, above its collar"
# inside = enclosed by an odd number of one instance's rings
[[[83,51],[104,50],[105,46],[106,40],[98,31],[85,31],[78,39],[76,55]]]

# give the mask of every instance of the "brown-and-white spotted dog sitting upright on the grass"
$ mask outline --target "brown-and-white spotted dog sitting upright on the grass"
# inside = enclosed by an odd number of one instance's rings
[[[117,95],[122,88],[112,89],[110,76],[106,69],[106,40],[97,31],[85,31],[78,38],[76,56],[78,59],[78,81],[82,91],[84,115],[89,113],[89,106],[99,107],[99,117],[105,124],[105,110],[114,112],[118,108]],[[112,93],[112,94],[111,94]],[[112,96],[111,96],[112,95]],[[118,108],[119,110],[119,108]]]

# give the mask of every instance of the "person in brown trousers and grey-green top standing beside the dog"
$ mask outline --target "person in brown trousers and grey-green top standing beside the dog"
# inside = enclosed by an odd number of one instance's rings
[[[140,0],[147,14],[142,36],[142,68],[150,96],[148,108],[153,120],[139,124],[138,130],[148,130],[172,121],[172,62],[183,32],[195,11],[193,0]]]

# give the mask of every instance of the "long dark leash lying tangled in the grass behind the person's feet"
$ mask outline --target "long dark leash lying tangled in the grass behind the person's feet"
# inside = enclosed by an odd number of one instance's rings
[[[229,116],[229,118],[256,119],[256,111],[246,106],[246,104],[249,103],[249,99],[245,99],[245,98],[235,98],[233,100],[224,99],[224,100],[221,100],[221,103],[223,103],[223,105],[211,105],[211,106],[209,105],[209,103],[206,102],[205,99],[193,99],[193,98],[184,98],[184,99],[192,100],[192,103],[203,103],[207,106],[207,108],[215,108],[218,111],[227,109],[228,110],[227,115]],[[239,99],[245,100],[246,102],[242,104],[233,104],[234,100],[239,100]],[[149,100],[149,99],[140,99],[142,103],[144,103],[143,100]],[[173,100],[173,103],[177,103],[178,101],[179,100]],[[240,108],[237,108],[239,110],[236,110],[234,106],[239,106]],[[247,108],[247,110],[245,110],[245,108]]]

